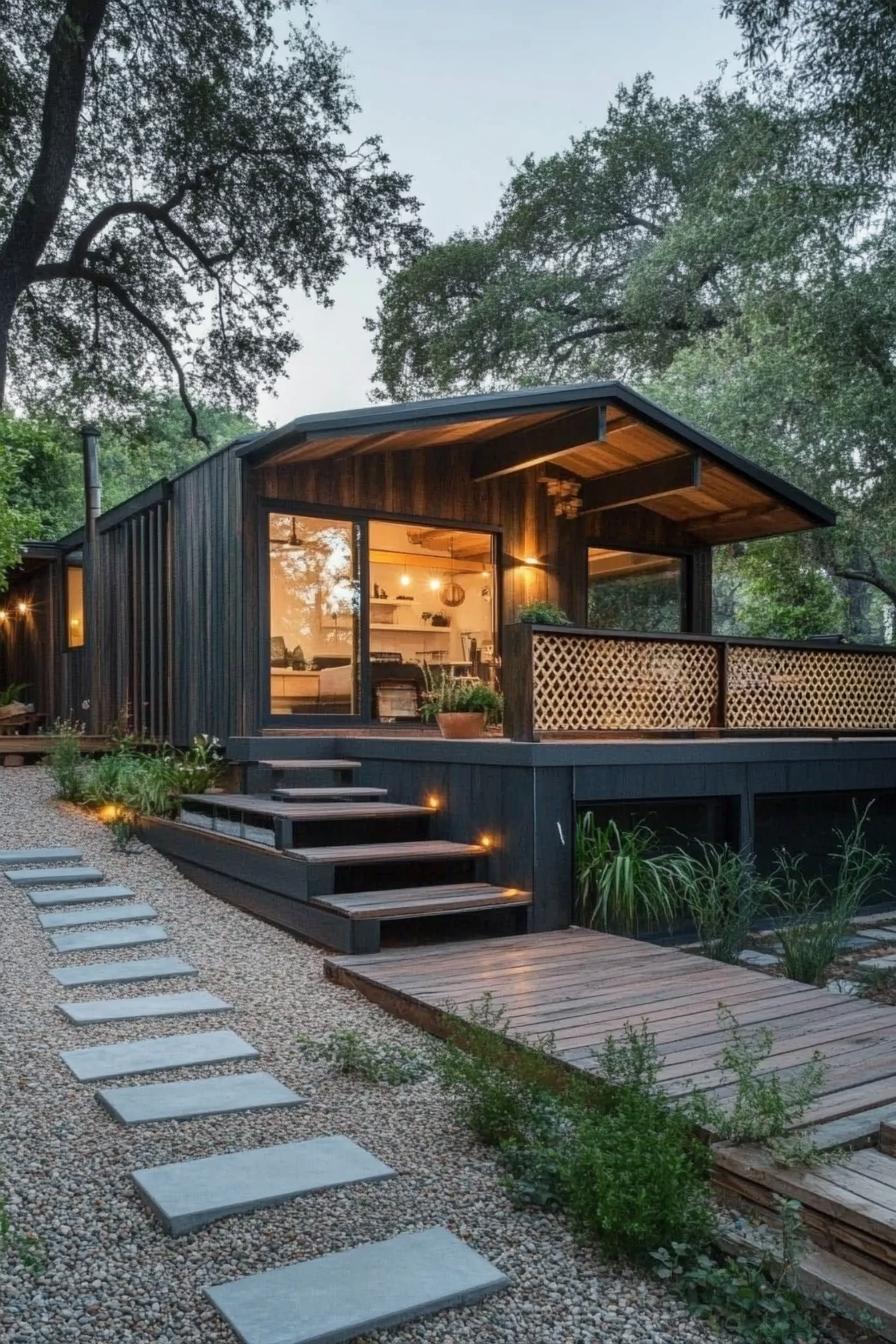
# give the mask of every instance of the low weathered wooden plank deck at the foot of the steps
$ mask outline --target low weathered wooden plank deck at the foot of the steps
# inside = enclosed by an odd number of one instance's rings
[[[328,957],[325,969],[435,1034],[447,1028],[449,1005],[469,1012],[488,993],[514,1035],[549,1038],[563,1066],[588,1073],[607,1036],[643,1021],[672,1097],[690,1089],[723,1103],[732,1097],[719,1068],[729,1035],[723,1004],[744,1028],[774,1032],[766,1073],[786,1077],[818,1051],[825,1079],[805,1124],[817,1126],[821,1146],[850,1150],[802,1172],[756,1149],[716,1145],[715,1184],[772,1220],[775,1196],[799,1199],[818,1255],[829,1255],[827,1289],[856,1294],[896,1339],[896,1136],[887,1124],[896,1121],[896,1008],[584,929]]]

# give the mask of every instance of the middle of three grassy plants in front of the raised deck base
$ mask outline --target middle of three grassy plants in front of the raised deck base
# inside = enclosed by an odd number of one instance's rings
[[[704,953],[715,961],[736,961],[760,905],[752,859],[727,844],[699,841],[696,852],[677,851],[672,872],[678,903],[693,921]]]

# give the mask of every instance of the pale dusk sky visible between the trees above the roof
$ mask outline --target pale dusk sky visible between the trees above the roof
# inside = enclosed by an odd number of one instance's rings
[[[737,50],[720,0],[317,0],[317,26],[347,48],[360,134],[380,134],[411,173],[435,239],[484,224],[510,163],[552,153],[598,125],[619,83],[653,71],[657,91],[692,93]],[[301,293],[302,341],[262,422],[363,406],[373,359],[364,319],[379,278],[351,265],[321,308]]]

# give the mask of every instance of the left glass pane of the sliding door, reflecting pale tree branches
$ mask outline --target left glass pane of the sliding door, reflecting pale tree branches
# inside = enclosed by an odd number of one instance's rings
[[[357,526],[271,513],[271,714],[357,714]]]

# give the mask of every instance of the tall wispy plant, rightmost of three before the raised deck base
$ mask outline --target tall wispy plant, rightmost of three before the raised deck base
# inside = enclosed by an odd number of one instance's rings
[[[849,831],[837,831],[837,844],[830,855],[834,875],[805,872],[805,856],[779,851],[767,879],[767,890],[785,917],[778,930],[782,965],[791,980],[821,984],[850,921],[864,902],[870,899],[889,871],[887,849],[869,849],[865,840],[869,808],[854,812]]]

